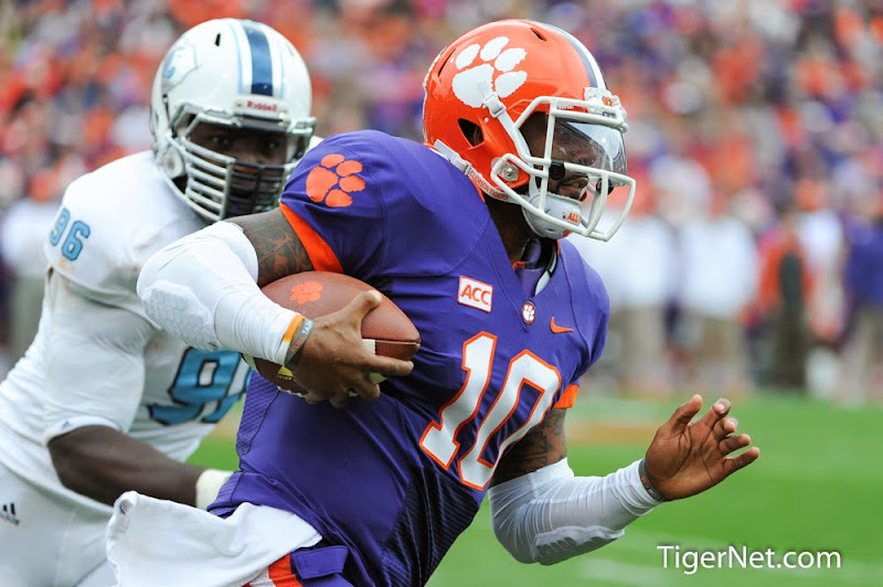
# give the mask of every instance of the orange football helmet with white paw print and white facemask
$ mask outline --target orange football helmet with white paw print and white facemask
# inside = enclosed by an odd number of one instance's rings
[[[488,195],[519,204],[540,236],[602,241],[635,198],[623,134],[626,110],[592,53],[572,34],[526,20],[485,24],[446,46],[424,81],[424,136]],[[544,117],[544,145],[531,152],[522,127]],[[550,190],[582,178],[581,200]],[[600,230],[608,194],[628,189],[613,225]],[[585,214],[581,203],[592,195]]]

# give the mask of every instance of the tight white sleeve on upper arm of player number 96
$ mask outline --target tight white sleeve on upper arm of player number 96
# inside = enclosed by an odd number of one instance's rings
[[[96,302],[53,274],[47,299],[43,440],[82,426],[127,431],[143,393],[143,349],[156,332],[145,318]]]

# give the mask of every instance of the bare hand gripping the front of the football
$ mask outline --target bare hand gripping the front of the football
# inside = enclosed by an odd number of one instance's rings
[[[411,361],[376,355],[362,342],[362,320],[380,301],[379,294],[363,291],[337,312],[313,320],[292,370],[295,382],[307,389],[307,402],[328,399],[334,407],[344,407],[351,391],[374,401],[380,386],[371,381],[371,373],[392,377],[411,373]]]

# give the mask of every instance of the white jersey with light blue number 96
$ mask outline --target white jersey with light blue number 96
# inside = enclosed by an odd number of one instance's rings
[[[247,366],[156,328],[136,294],[147,258],[204,223],[146,151],[74,181],[47,236],[39,332],[0,383],[0,462],[40,490],[111,509],[58,481],[45,442],[87,425],[187,459],[245,389]]]

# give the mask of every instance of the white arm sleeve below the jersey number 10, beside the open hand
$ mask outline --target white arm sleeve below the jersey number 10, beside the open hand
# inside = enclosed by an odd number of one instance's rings
[[[660,502],[638,462],[606,477],[574,477],[563,459],[490,488],[493,534],[521,563],[552,565],[608,544]]]

